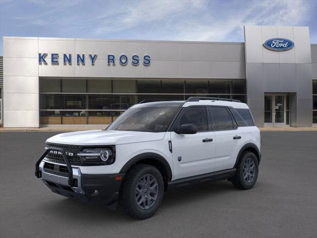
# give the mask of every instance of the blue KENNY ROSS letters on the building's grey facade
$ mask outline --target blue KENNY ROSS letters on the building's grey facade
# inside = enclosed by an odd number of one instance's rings
[[[47,53],[39,53],[39,64],[42,64],[42,63],[47,64],[48,63],[47,60],[46,60],[47,56],[48,56]],[[94,65],[96,60],[97,60],[98,55],[97,54],[95,54],[95,55],[89,54],[88,56],[89,56],[89,62],[92,65]],[[71,54],[63,54],[62,56],[59,56],[59,54],[56,54],[56,53],[52,53],[51,54],[51,63],[52,64],[58,64],[59,63],[59,61],[58,61],[59,57],[62,57],[63,63],[65,65],[66,64],[72,64],[72,56],[71,56]],[[80,64],[85,65],[86,64],[86,60],[87,59],[85,59],[85,54],[76,54],[76,63],[77,63],[77,65],[80,65]],[[111,64],[115,65],[115,61],[116,60],[117,59],[115,58],[114,55],[107,55],[107,64],[108,65],[111,65]],[[121,55],[118,60],[119,60],[119,63],[121,65],[127,65],[129,63],[129,58],[126,55]],[[140,60],[139,56],[137,56],[137,55],[133,55],[132,58],[131,58],[131,64],[132,65],[137,66],[137,65],[140,64],[140,61],[142,61],[144,66],[148,66],[148,65],[151,64],[151,58],[148,55],[143,56],[142,60]]]

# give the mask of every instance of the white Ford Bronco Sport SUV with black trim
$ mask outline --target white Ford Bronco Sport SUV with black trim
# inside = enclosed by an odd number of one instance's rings
[[[260,131],[237,100],[191,97],[132,106],[106,130],[55,135],[35,175],[55,193],[101,201],[146,219],[166,190],[228,179],[250,189],[257,181]]]

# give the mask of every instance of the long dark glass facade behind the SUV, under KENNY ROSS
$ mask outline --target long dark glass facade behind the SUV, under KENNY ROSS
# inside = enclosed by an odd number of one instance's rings
[[[40,124],[109,124],[143,100],[219,95],[246,102],[246,81],[40,78]]]

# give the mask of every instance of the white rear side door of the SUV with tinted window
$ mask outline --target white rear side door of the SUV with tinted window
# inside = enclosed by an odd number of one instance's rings
[[[209,112],[215,133],[215,169],[231,169],[245,141],[243,131],[237,126],[227,107],[209,107]]]

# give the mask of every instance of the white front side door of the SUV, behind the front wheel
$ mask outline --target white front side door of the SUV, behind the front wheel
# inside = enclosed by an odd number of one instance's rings
[[[215,170],[214,132],[211,131],[207,108],[205,106],[186,108],[180,115],[176,128],[187,123],[196,125],[196,134],[171,132],[173,179],[207,174]]]

